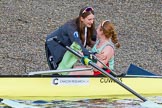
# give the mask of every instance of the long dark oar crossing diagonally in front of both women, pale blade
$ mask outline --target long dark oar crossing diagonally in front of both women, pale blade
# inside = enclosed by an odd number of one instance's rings
[[[154,103],[152,101],[148,101],[146,98],[144,98],[143,96],[141,96],[140,94],[138,94],[137,92],[135,92],[133,89],[131,89],[130,87],[128,87],[124,83],[120,82],[117,78],[113,77],[111,74],[108,74],[105,70],[103,70],[102,68],[98,67],[95,63],[91,62],[90,59],[83,57],[81,54],[77,53],[76,51],[74,51],[69,46],[64,45],[60,40],[57,39],[57,36],[55,36],[52,39],[54,41],[56,41],[58,44],[60,44],[61,46],[63,46],[64,48],[66,48],[68,51],[70,51],[71,53],[73,53],[75,56],[77,56],[77,57],[79,57],[81,59],[84,59],[84,62],[85,62],[86,65],[90,65],[90,66],[98,69],[100,72],[102,72],[102,74],[104,74],[105,76],[111,78],[116,83],[118,83],[120,86],[122,86],[123,88],[125,88],[126,90],[128,90],[130,93],[132,93],[133,95],[135,95],[138,98],[140,98],[142,101],[144,101],[144,103],[141,104],[143,107],[146,107],[146,108],[162,108],[162,106],[160,106],[160,105],[158,105],[158,104],[156,104],[156,103]]]

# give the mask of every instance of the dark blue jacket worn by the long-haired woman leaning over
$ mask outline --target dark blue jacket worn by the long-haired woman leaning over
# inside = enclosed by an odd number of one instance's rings
[[[65,23],[63,26],[59,27],[58,29],[53,31],[51,34],[47,35],[46,45],[56,63],[62,60],[66,49],[60,46],[55,41],[47,41],[48,39],[54,36],[57,36],[57,38],[61,42],[63,42],[66,46],[70,46],[74,41],[76,41],[81,46],[83,53],[85,55],[88,54],[88,51],[86,50],[86,48],[84,48],[83,45],[81,44],[80,38],[79,37],[76,38],[73,36],[74,32],[77,32],[76,19]],[[95,39],[96,39],[96,34],[94,33],[92,40],[95,40]]]

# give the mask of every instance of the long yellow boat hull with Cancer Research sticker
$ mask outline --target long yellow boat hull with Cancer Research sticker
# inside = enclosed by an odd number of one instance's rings
[[[162,96],[162,78],[118,77],[141,95]],[[94,97],[132,97],[129,91],[108,77],[2,77],[0,97],[68,99]]]

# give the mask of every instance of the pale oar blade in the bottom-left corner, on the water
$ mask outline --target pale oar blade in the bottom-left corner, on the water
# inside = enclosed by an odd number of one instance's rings
[[[35,107],[35,106],[22,104],[22,103],[19,103],[19,102],[10,100],[10,99],[2,99],[2,98],[0,98],[0,102],[4,103],[4,104],[6,104],[6,105],[8,105],[8,106],[10,106],[12,108],[38,108],[38,107]]]

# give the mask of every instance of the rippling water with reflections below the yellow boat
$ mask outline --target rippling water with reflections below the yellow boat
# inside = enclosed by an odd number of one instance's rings
[[[151,100],[155,103],[162,105],[162,97],[148,97],[148,100]],[[84,99],[84,100],[75,100],[75,101],[63,101],[63,100],[54,100],[54,101],[22,101],[15,100],[16,102],[37,106],[41,108],[142,108],[140,99]],[[0,108],[11,108],[4,104],[0,104]]]

